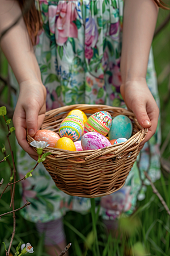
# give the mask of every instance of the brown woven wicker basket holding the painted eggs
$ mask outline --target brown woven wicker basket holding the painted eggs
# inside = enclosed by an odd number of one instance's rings
[[[100,110],[108,111],[112,117],[124,114],[133,122],[133,134],[126,142],[114,144],[100,150],[66,151],[46,147],[50,151],[43,162],[57,187],[71,196],[100,197],[109,195],[125,184],[126,177],[139,154],[139,144],[145,139],[147,129],[143,129],[129,110],[106,105],[71,105],[46,112],[41,129],[58,133],[59,125],[67,113],[80,109],[87,117]],[[27,141],[33,141],[27,133]],[[35,148],[33,148],[36,150]]]

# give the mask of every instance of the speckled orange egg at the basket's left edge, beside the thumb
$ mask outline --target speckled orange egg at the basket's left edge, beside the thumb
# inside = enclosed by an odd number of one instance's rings
[[[49,143],[49,147],[54,147],[59,139],[59,135],[50,130],[38,130],[33,137],[35,141],[45,141]]]

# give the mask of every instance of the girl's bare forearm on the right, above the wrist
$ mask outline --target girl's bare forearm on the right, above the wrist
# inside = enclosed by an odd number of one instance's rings
[[[146,78],[158,7],[152,0],[125,0],[122,38],[122,83]]]

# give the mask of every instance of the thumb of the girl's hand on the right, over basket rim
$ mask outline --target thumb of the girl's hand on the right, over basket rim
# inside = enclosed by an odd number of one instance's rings
[[[150,128],[151,127],[152,123],[150,121],[150,118],[147,115],[145,105],[137,105],[137,106],[135,106],[135,108],[131,108],[131,110],[135,114],[135,117],[137,118],[138,123],[143,128]]]

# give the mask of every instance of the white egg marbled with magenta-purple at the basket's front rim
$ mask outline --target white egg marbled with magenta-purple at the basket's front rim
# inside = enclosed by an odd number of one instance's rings
[[[108,146],[111,146],[111,142],[100,133],[92,131],[82,137],[83,150],[97,150]]]

